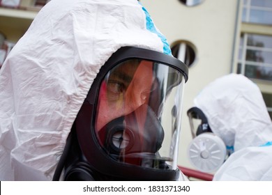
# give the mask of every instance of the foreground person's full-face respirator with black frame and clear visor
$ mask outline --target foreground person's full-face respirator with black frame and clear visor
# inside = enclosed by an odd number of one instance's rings
[[[177,180],[187,79],[172,56],[117,50],[91,85],[53,180]]]

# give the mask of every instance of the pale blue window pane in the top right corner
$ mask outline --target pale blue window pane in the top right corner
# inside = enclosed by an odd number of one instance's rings
[[[272,24],[271,0],[243,0],[243,22]]]

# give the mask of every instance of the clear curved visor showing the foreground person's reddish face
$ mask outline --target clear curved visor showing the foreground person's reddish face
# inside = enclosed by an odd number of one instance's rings
[[[116,162],[177,168],[183,74],[142,59],[116,65],[100,84],[95,130]]]

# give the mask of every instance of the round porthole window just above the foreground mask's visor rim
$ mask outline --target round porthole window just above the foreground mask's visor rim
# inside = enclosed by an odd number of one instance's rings
[[[186,40],[175,42],[172,45],[171,50],[173,56],[185,63],[188,67],[190,67],[195,62],[196,49],[191,42]]]

